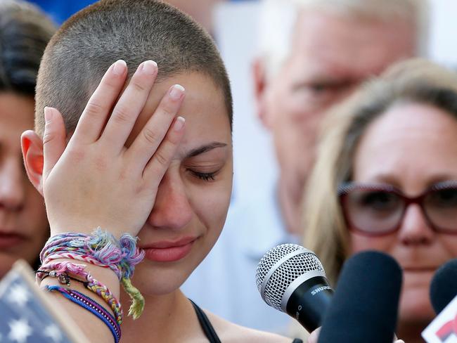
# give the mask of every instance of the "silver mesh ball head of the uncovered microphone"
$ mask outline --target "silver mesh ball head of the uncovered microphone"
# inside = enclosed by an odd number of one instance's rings
[[[300,253],[297,253],[297,250],[300,250]],[[288,255],[290,258],[287,258]],[[275,266],[281,259],[285,260]],[[255,282],[264,302],[278,311],[283,311],[281,300],[285,290],[295,279],[309,271],[321,271],[325,274],[321,261],[313,252],[300,245],[281,244],[269,250],[259,261]],[[271,276],[262,292],[262,284],[269,273]]]

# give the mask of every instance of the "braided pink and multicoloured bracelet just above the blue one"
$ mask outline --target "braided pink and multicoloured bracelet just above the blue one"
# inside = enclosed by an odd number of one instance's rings
[[[56,262],[53,264],[43,265],[40,267],[39,271],[37,271],[37,280],[41,281],[42,276],[45,273],[47,273],[49,276],[58,278],[60,283],[63,283],[67,286],[70,286],[70,276],[68,275],[69,273],[72,276],[78,276],[82,278],[82,280],[77,278],[72,279],[82,282],[84,287],[101,297],[114,312],[117,323],[119,325],[122,324],[122,320],[124,318],[122,305],[114,297],[114,295],[112,295],[108,287],[92,277],[90,273],[84,271],[84,266],[82,264],[72,264],[71,262]]]

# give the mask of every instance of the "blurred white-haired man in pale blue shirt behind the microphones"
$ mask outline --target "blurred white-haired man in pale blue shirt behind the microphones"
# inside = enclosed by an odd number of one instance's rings
[[[288,316],[259,297],[257,263],[301,235],[300,202],[325,113],[371,75],[420,52],[423,7],[418,0],[263,1],[253,75],[279,176],[250,204],[232,209],[211,257],[184,285],[189,297],[230,321],[285,332]]]

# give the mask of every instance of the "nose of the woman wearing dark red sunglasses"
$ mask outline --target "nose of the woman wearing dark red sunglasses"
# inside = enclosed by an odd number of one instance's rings
[[[420,206],[409,205],[399,230],[401,242],[404,245],[429,245],[434,237],[435,231],[427,224]]]

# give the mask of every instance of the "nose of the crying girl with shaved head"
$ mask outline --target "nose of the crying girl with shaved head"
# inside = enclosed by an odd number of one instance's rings
[[[178,231],[191,221],[192,216],[193,209],[179,172],[167,171],[157,190],[148,223],[153,228]]]

